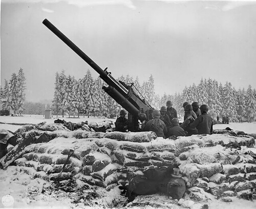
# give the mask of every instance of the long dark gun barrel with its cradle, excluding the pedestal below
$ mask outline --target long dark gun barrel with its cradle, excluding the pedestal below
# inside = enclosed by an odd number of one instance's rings
[[[53,24],[51,24],[48,19],[44,19],[42,24],[44,24],[50,31],[65,42],[68,47],[70,47],[100,75],[100,78],[109,85],[108,87],[103,86],[103,90],[135,118],[139,112],[146,113],[147,110],[152,109],[151,105],[138,97],[138,95],[133,92],[132,88],[124,86],[122,83],[117,81],[108,71],[106,71],[106,69],[103,71],[103,69],[101,69],[90,57],[82,52],[77,45],[75,45],[68,37],[66,37]]]

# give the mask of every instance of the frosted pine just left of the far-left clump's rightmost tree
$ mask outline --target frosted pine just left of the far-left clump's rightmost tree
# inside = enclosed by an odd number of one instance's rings
[[[14,111],[14,115],[15,115],[16,111],[18,110],[18,91],[19,91],[17,86],[17,76],[15,73],[12,74],[9,84],[10,84],[10,90],[9,90],[10,107],[11,107],[11,110]]]

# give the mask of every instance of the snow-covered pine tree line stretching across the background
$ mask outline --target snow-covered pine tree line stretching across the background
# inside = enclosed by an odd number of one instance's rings
[[[118,115],[122,107],[106,94],[102,86],[106,85],[101,78],[94,79],[88,69],[83,78],[76,80],[74,76],[65,75],[65,71],[55,74],[54,98],[52,104],[25,102],[25,76],[23,69],[19,69],[16,76],[12,74],[11,80],[5,80],[1,87],[1,101],[3,109],[27,114],[44,114],[45,109],[52,109],[53,114],[66,114],[79,117],[81,114],[113,118]],[[256,91],[249,85],[247,89],[236,90],[230,82],[224,85],[212,79],[201,79],[196,85],[185,86],[182,92],[175,95],[163,93],[155,94],[155,83],[152,75],[147,81],[140,83],[138,77],[126,75],[117,78],[126,84],[133,84],[133,89],[142,99],[152,107],[160,109],[166,101],[174,103],[177,113],[184,114],[183,103],[199,102],[209,106],[209,114],[216,119],[217,116],[229,116],[233,122],[256,121]]]

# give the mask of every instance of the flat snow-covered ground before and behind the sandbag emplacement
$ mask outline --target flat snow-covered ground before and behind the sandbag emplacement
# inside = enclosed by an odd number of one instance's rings
[[[99,118],[59,118],[60,120],[70,121],[73,123],[77,122],[100,122],[110,119],[99,119]],[[43,115],[24,115],[23,117],[0,117],[0,122],[2,123],[27,123],[27,124],[38,124],[41,122],[54,123],[56,118],[44,119]],[[111,119],[115,121],[114,119]],[[0,129],[7,129],[10,131],[16,131],[22,125],[10,125],[10,124],[0,124]],[[230,124],[217,124],[214,125],[214,129],[225,129],[229,127],[233,130],[244,131],[245,133],[256,133],[256,123],[230,123]],[[72,203],[72,197],[76,195],[75,192],[66,193],[63,191],[55,191],[54,193],[49,190],[44,190],[49,186],[50,182],[36,178],[30,179],[30,176],[25,173],[17,172],[15,167],[10,166],[6,171],[0,170],[0,208],[92,208],[84,206],[83,202]],[[86,191],[84,191],[86,192]],[[109,201],[113,197],[117,197],[120,193],[118,189],[111,190],[111,192],[106,192],[104,189],[97,191],[99,194],[104,196],[100,201]],[[13,198],[12,204],[5,206],[3,204],[3,197],[6,195],[11,195]],[[119,196],[120,197],[120,196]],[[165,197],[159,197],[158,201],[166,201]],[[234,198],[232,202],[223,202],[215,198],[209,199],[205,204],[208,204],[210,209],[215,208],[227,208],[227,209],[254,209],[256,208],[256,200],[249,201],[244,199]],[[95,207],[93,207],[95,208]],[[98,207],[100,208],[100,207]],[[139,207],[133,207],[139,208]],[[152,208],[151,206],[143,208]],[[179,207],[177,204],[170,208],[184,208]],[[199,208],[193,208],[199,209]]]

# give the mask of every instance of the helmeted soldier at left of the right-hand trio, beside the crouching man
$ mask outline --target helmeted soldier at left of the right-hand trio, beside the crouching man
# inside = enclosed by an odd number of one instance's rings
[[[185,106],[185,113],[187,115],[187,118],[181,124],[181,128],[183,128],[187,132],[186,136],[191,136],[193,134],[198,134],[198,130],[196,128],[192,128],[190,126],[190,123],[194,122],[197,119],[197,115],[193,111],[192,105],[188,104],[188,105]]]

